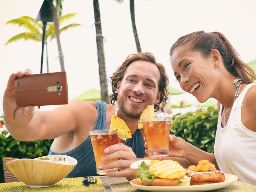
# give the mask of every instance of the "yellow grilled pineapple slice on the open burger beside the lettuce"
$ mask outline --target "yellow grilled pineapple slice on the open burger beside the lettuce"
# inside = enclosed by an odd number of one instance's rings
[[[187,172],[178,162],[172,160],[158,161],[150,165],[148,171],[162,179],[176,179]]]

